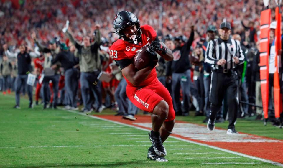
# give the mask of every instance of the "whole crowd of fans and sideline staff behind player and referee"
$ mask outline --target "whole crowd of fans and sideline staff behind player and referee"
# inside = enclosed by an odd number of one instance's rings
[[[171,50],[184,46],[189,50],[188,79],[180,76],[180,81],[176,81],[174,73],[178,72],[168,62],[159,61],[156,66],[160,82],[173,97],[177,115],[187,116],[190,110],[195,110],[196,116],[209,115],[209,92],[205,88],[210,84],[205,81],[210,78],[210,70],[204,62],[205,47],[211,34],[213,38],[218,36],[223,20],[231,23],[232,38],[241,42],[246,57],[246,63],[238,69],[240,101],[261,106],[258,36],[262,9],[259,0],[2,0],[0,89],[3,94],[15,91],[15,108],[20,108],[19,95],[31,94],[25,83],[28,73],[32,73],[37,80],[35,103],[30,96],[30,108],[39,104],[41,97],[43,108],[57,108],[59,104],[78,110],[83,104],[80,110],[84,113],[111,108],[117,115],[134,120],[138,109],[128,100],[125,79],[108,50],[118,38],[112,33],[113,19],[118,11],[127,10],[136,14],[142,25],[151,25]],[[69,28],[66,20],[70,21]],[[23,56],[17,56],[18,53]],[[195,63],[196,57],[200,63]],[[31,62],[32,68],[27,69],[28,63],[24,66],[22,62]],[[184,85],[184,80],[190,82]],[[186,85],[190,85],[190,90],[185,89]],[[256,114],[261,119],[262,109],[246,103],[239,104],[238,116]],[[216,122],[226,119],[225,99],[223,104]]]

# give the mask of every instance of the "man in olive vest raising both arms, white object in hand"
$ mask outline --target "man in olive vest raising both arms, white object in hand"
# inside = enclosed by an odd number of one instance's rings
[[[96,98],[96,112],[101,112],[103,109],[101,104],[101,81],[97,77],[101,71],[101,58],[98,55],[98,50],[101,43],[101,35],[97,24],[95,27],[94,41],[90,42],[90,37],[83,37],[83,44],[77,42],[68,30],[69,23],[66,22],[65,27],[62,29],[70,42],[75,45],[78,50],[77,55],[80,63],[80,85],[83,98],[84,109],[82,112],[88,113],[93,111],[90,93]]]

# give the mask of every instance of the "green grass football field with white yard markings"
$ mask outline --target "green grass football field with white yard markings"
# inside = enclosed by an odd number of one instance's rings
[[[24,98],[20,110],[13,106],[12,95],[0,95],[0,167],[275,167],[173,138],[164,143],[169,162],[153,162],[147,159],[147,131],[64,110],[29,109]],[[202,119],[177,117],[195,123]],[[217,126],[226,128],[227,122]],[[282,139],[281,130],[262,122],[241,119],[237,130]]]

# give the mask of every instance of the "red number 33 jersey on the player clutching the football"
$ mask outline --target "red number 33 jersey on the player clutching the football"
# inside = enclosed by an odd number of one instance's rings
[[[131,59],[134,63],[134,57],[139,49],[149,46],[152,41],[157,37],[157,34],[153,27],[149,25],[141,26],[141,43],[134,44],[131,42],[126,42],[122,39],[118,39],[113,45],[109,48],[110,55],[114,60],[123,60]],[[145,79],[139,86],[149,85],[154,79],[157,78],[155,68],[152,69],[147,79]],[[126,78],[125,78],[126,79]],[[127,80],[128,85],[137,87]]]

